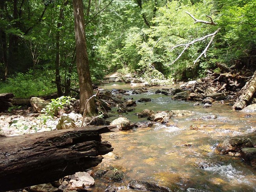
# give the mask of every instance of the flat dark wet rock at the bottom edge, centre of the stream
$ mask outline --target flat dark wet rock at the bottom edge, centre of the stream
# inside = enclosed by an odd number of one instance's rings
[[[152,192],[171,192],[167,187],[159,186],[156,183],[148,183],[147,181],[130,181],[128,188]]]

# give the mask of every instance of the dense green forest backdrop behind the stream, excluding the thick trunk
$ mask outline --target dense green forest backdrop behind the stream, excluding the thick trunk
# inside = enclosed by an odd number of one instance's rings
[[[69,95],[78,82],[72,2],[0,6],[0,92]],[[180,81],[209,69],[255,70],[254,0],[88,0],[83,9],[95,83],[116,71]]]

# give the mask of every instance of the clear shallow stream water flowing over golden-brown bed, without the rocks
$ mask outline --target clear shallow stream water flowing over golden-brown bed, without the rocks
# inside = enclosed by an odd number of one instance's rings
[[[122,83],[115,87],[112,85],[102,88],[130,89],[129,85]],[[158,183],[174,191],[186,191],[191,187],[213,192],[256,192],[255,168],[242,162],[239,157],[221,155],[214,151],[215,146],[228,137],[250,135],[255,143],[256,113],[232,111],[232,103],[214,103],[210,108],[193,106],[195,102],[174,101],[171,96],[154,94],[156,88],[148,90],[145,94],[125,97],[134,100],[151,98],[151,102],[137,102],[135,111],[128,114],[113,112],[110,120],[118,116],[124,116],[132,122],[146,120],[138,119],[135,114],[143,109],[180,109],[195,114],[172,118],[171,127],[157,123],[152,127],[102,134],[102,140],[112,144],[115,157],[105,155],[95,170],[115,168],[124,172],[124,179],[115,182],[120,191],[133,191],[126,189],[128,182],[141,180]],[[189,129],[189,126],[197,126],[199,129]],[[106,186],[114,183],[101,178],[95,180],[93,191],[104,191]]]

